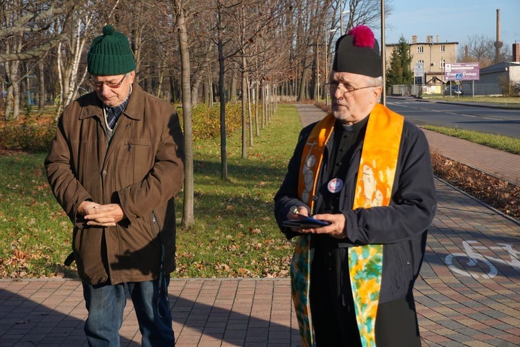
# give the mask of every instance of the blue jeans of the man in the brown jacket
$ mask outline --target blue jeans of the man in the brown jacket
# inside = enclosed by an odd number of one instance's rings
[[[168,287],[170,278],[165,276]],[[141,346],[175,346],[171,312],[166,290],[159,295],[159,280],[128,282],[119,285],[87,285],[83,283],[83,296],[89,315],[85,334],[89,346],[119,347],[119,329],[123,324],[126,305],[125,284],[134,303]]]

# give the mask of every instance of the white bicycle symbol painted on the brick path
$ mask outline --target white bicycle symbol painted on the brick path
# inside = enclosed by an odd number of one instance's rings
[[[496,269],[496,266],[494,266],[492,262],[509,265],[514,270],[520,272],[520,252],[515,250],[512,245],[497,244],[498,246],[487,248],[486,246],[477,246],[477,244],[477,241],[462,241],[465,253],[450,253],[447,255],[444,262],[447,264],[448,268],[454,273],[463,276],[484,279],[493,278],[497,273],[499,273],[498,269]],[[510,260],[508,261],[498,257],[483,255],[478,253],[476,250],[502,250],[508,253]],[[479,264],[479,262],[481,264]],[[470,269],[467,269],[468,267],[479,269],[479,272],[485,272],[485,274],[469,271]]]

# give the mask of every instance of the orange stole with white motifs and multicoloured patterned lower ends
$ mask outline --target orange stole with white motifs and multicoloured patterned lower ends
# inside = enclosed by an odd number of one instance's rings
[[[315,125],[302,153],[298,194],[313,212],[313,196],[322,164],[324,148],[336,119],[329,114]],[[372,208],[390,203],[397,168],[404,117],[376,104],[367,123],[363,151],[356,178],[352,208]],[[347,230],[348,234],[349,230]],[[309,303],[311,257],[310,236],[300,236],[291,262],[291,292],[295,305],[302,346],[313,346],[314,337]],[[375,346],[375,323],[383,246],[349,247],[349,274],[356,320],[363,346]]]

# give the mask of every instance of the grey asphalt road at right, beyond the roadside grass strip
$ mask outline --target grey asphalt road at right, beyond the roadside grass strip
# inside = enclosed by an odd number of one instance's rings
[[[431,124],[520,137],[520,110],[392,98],[386,100],[386,106],[419,125]]]

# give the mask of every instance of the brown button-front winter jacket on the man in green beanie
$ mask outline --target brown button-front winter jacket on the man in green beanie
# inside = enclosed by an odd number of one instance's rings
[[[128,105],[107,142],[96,93],[64,109],[45,169],[53,193],[73,223],[73,255],[80,278],[141,282],[175,269],[173,197],[184,180],[184,139],[175,108],[133,85]],[[116,226],[87,226],[83,201],[120,203]]]

